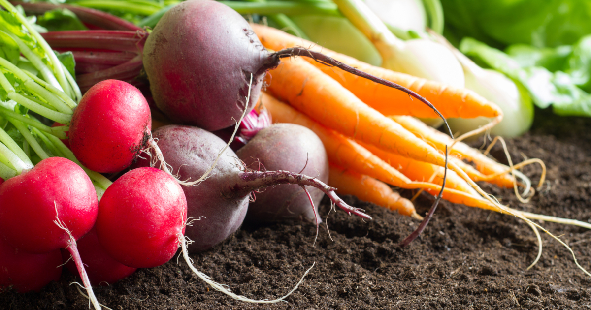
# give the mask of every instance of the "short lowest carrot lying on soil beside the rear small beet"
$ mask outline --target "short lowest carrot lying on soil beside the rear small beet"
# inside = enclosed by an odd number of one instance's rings
[[[355,195],[361,200],[398,211],[403,216],[423,219],[410,200],[400,197],[400,194],[392,191],[384,182],[367,175],[330,164],[329,186],[335,187],[339,194]]]

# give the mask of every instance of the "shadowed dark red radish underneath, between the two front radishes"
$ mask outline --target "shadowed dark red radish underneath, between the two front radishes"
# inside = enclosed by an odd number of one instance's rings
[[[78,240],[77,244],[80,257],[86,265],[86,273],[92,285],[113,284],[137,270],[137,268],[125,266],[109,256],[105,248],[100,245],[95,228]],[[75,275],[77,269],[74,262],[70,260],[70,253],[61,250],[61,257],[63,257],[64,262],[67,261],[66,267],[68,270]]]

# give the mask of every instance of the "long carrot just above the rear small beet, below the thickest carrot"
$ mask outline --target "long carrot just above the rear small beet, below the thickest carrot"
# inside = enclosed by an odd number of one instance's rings
[[[316,133],[324,144],[329,162],[332,164],[368,175],[395,187],[424,189],[433,195],[437,195],[437,192],[441,190],[441,186],[438,184],[411,181],[400,171],[388,165],[387,162],[378,158],[366,148],[363,148],[363,146],[335,132],[335,130],[320,125],[309,118],[309,116],[298,112],[293,107],[280,102],[267,93],[262,93],[261,103],[268,110],[269,114],[271,114],[273,122],[298,124]],[[425,174],[430,175],[433,171],[427,171]],[[452,203],[465,204],[470,207],[499,211],[499,208],[489,203],[489,201],[483,200],[469,192],[452,189],[450,186],[456,187],[453,185],[453,178],[452,181],[446,183],[446,188],[443,191],[443,199]]]

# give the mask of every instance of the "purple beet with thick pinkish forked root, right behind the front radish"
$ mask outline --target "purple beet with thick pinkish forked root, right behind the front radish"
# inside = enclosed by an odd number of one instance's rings
[[[180,180],[194,180],[204,175],[226,144],[213,133],[191,126],[163,126],[154,130],[153,134],[154,138],[158,138],[158,146],[168,165],[178,173]],[[298,171],[305,163],[304,156]],[[149,166],[150,161],[142,159],[136,165]],[[196,253],[209,249],[236,231],[246,215],[253,191],[285,183],[317,187],[343,210],[371,218],[340,200],[333,192],[334,188],[319,180],[288,171],[245,171],[236,154],[226,149],[209,178],[196,187],[183,187],[187,197],[187,216],[204,217],[198,224],[187,227],[186,236],[193,241],[189,251]]]

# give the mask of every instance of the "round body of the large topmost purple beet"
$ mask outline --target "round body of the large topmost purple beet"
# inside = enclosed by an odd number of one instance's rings
[[[246,106],[252,109],[268,54],[236,11],[190,0],[170,9],[151,32],[144,68],[154,101],[168,118],[215,131],[234,125]]]

